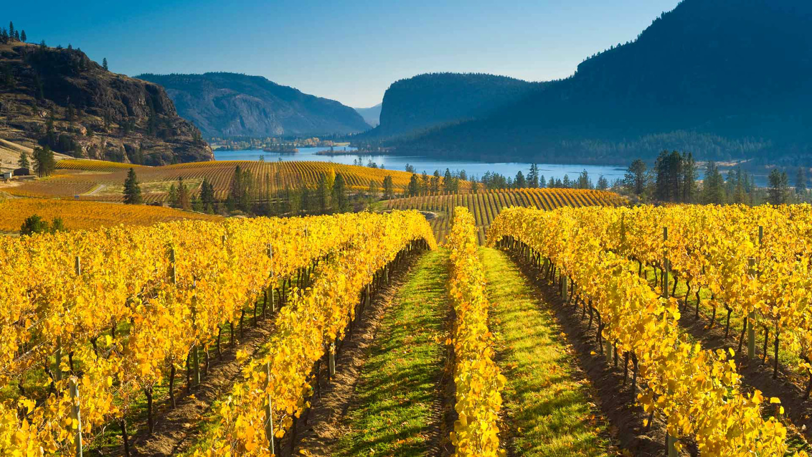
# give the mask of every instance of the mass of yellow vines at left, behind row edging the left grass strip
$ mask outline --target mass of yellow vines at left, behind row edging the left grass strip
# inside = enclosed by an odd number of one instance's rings
[[[65,451],[79,425],[74,406],[92,436],[167,378],[172,397],[175,370],[208,354],[215,337],[219,346],[224,324],[233,335],[252,303],[256,315],[257,296],[270,288],[273,300],[276,288],[285,298],[286,279],[407,217],[183,221],[0,239],[0,382],[10,394],[0,402],[0,451]]]

